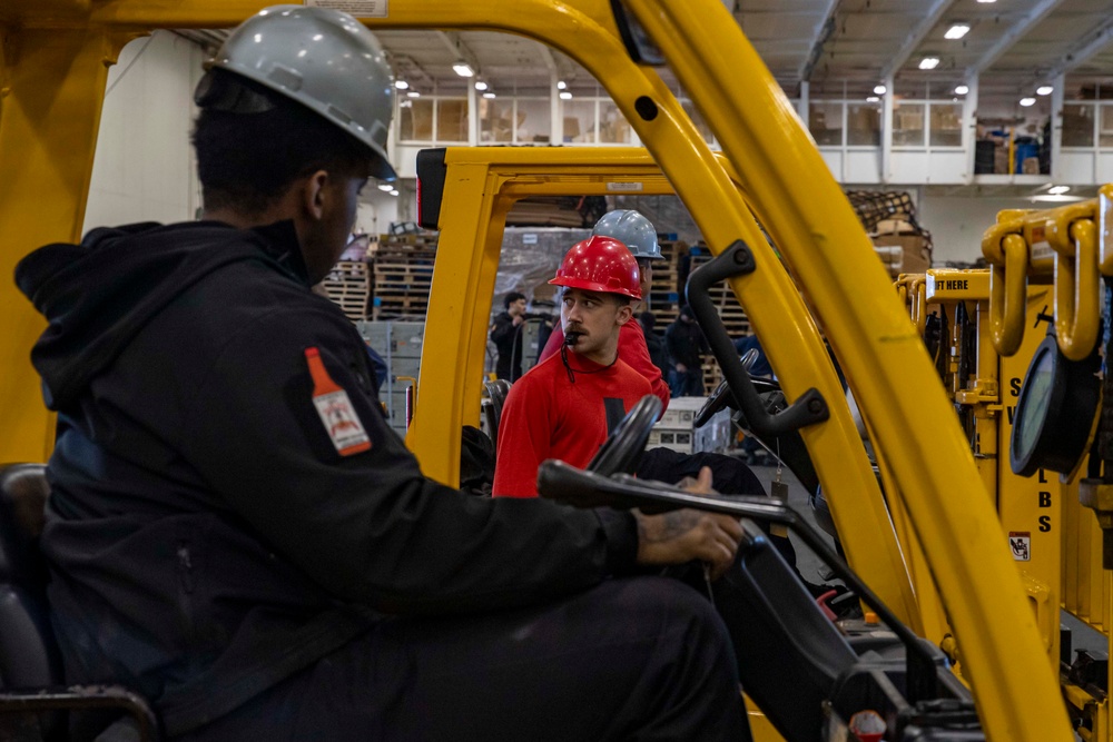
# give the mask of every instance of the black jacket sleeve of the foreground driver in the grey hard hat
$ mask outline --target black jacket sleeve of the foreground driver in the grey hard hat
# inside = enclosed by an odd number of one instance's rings
[[[321,352],[372,442],[337,454],[313,403]],[[275,310],[223,348],[183,431],[189,463],[270,546],[337,597],[474,611],[567,594],[632,566],[633,517],[481,498],[425,478],[373,404],[342,317]]]

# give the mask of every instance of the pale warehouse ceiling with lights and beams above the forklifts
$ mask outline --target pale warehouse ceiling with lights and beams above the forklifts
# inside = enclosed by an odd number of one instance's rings
[[[729,1],[729,0],[728,0]],[[897,95],[933,97],[973,76],[983,100],[1034,95],[1057,75],[1068,97],[1113,90],[1113,0],[733,0],[733,16],[789,96],[869,95],[888,75]],[[947,39],[955,24],[968,31]],[[188,34],[198,38],[206,32]],[[418,92],[453,92],[469,62],[494,91],[548,91],[552,77],[574,91],[594,79],[534,41],[484,31],[378,31],[400,79]],[[938,66],[919,69],[925,57]],[[674,80],[664,73],[666,81]],[[1103,96],[1105,97],[1105,96]]]

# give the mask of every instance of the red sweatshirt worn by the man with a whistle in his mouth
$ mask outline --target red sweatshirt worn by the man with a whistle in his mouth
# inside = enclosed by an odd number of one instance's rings
[[[531,368],[506,395],[499,422],[495,497],[536,497],[538,468],[546,458],[587,466],[626,413],[653,393],[621,359],[600,366],[570,352],[568,360],[575,383],[558,353]]]

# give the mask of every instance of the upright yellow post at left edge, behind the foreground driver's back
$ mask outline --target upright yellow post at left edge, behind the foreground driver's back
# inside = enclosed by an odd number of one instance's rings
[[[4,29],[0,113],[0,462],[46,461],[52,416],[31,345],[38,313],[12,279],[33,248],[79,237],[107,67],[131,38],[91,29]]]

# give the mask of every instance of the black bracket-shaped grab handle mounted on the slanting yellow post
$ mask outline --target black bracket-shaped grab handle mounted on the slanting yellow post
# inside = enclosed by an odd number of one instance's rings
[[[830,409],[827,402],[815,387],[800,395],[796,402],[784,410],[770,415],[761,404],[761,397],[754,388],[754,382],[749,373],[738,359],[735,345],[723,327],[719,313],[715,310],[711,301],[710,288],[715,284],[754,273],[757,265],[754,263],[754,254],[740,239],[737,239],[726,250],[716,256],[710,263],[700,266],[688,276],[688,285],[684,288],[684,296],[688,297],[688,306],[692,308],[696,320],[707,337],[707,343],[711,347],[715,359],[719,362],[722,369],[722,377],[726,379],[730,392],[738,403],[738,408],[746,416],[750,424],[750,429],[759,438],[761,436],[777,436],[791,431],[798,431],[807,425],[823,423],[830,417]]]

